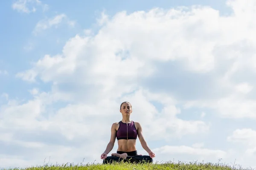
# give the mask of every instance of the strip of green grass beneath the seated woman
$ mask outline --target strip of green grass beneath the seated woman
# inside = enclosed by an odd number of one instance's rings
[[[131,163],[113,163],[113,164],[62,164],[48,165],[27,168],[13,168],[3,170],[253,170],[253,168],[244,169],[239,165],[233,166],[223,163],[198,163],[198,162],[156,162],[154,164],[131,164]]]

